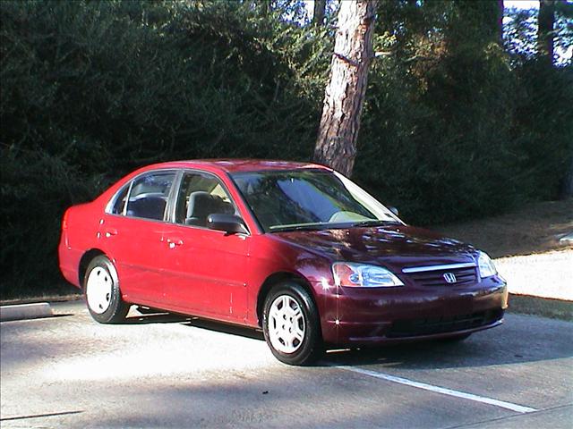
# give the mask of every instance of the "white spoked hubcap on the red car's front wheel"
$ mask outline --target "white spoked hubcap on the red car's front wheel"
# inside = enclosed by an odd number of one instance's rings
[[[294,353],[304,340],[303,310],[292,297],[281,295],[269,309],[269,340],[282,353]]]

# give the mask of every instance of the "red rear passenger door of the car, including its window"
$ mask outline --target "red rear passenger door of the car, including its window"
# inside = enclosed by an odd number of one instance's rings
[[[124,298],[161,304],[165,296],[163,243],[175,171],[145,173],[121,189],[100,224],[102,248],[115,259]]]

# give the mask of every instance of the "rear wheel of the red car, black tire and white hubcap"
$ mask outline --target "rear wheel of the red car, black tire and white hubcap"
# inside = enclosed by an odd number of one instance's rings
[[[102,284],[108,288],[106,293],[101,293]],[[118,324],[125,320],[130,305],[122,299],[117,271],[107,257],[99,256],[91,260],[82,286],[86,304],[94,320],[100,324]]]

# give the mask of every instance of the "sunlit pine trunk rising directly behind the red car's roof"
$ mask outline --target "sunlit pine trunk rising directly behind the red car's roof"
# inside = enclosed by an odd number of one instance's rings
[[[350,175],[355,164],[356,139],[372,59],[376,0],[340,4],[330,81],[322,108],[313,160]]]

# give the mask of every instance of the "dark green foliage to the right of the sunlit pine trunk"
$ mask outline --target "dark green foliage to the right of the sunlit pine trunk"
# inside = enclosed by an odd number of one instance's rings
[[[571,68],[504,52],[496,6],[389,2],[382,13],[379,38],[396,55],[370,75],[355,174],[410,222],[558,197],[573,154]]]

